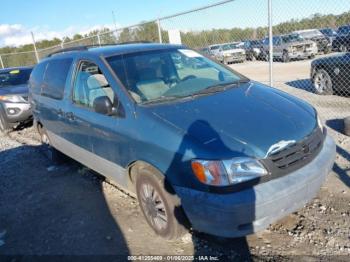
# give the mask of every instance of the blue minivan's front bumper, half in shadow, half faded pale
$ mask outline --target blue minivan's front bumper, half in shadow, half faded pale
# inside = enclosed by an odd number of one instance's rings
[[[335,143],[327,136],[318,156],[306,166],[239,192],[215,194],[174,188],[193,229],[241,237],[265,229],[315,197],[333,166],[335,152]]]

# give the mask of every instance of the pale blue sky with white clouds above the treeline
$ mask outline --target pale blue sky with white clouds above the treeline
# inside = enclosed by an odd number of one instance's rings
[[[1,0],[0,47],[61,38],[108,27],[125,27],[141,21],[197,8],[219,0]],[[350,11],[350,0],[272,0],[273,21],[309,17],[314,13]],[[115,14],[115,24],[112,11]],[[203,30],[267,25],[267,0],[231,3],[161,21],[162,28]]]

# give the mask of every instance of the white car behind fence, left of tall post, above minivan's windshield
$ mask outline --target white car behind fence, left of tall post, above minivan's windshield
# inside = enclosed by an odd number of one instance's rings
[[[245,50],[239,42],[220,45],[215,57],[224,64],[233,62],[244,62],[246,60]]]

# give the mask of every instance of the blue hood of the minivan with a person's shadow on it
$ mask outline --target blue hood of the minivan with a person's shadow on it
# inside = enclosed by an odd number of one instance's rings
[[[264,158],[271,146],[300,141],[317,125],[310,105],[255,82],[147,110],[217,159]]]

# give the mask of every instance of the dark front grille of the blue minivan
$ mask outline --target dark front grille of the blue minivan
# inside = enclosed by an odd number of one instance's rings
[[[320,128],[315,129],[304,140],[269,156],[278,169],[288,169],[311,161],[322,148],[324,134]]]

